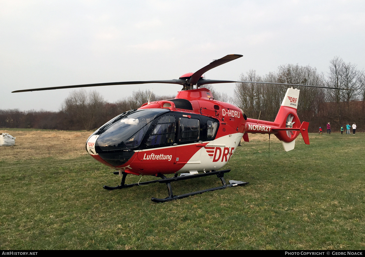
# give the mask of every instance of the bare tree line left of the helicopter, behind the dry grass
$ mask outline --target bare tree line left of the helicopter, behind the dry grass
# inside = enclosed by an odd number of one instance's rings
[[[0,110],[0,128],[37,128],[58,130],[86,130],[99,128],[105,122],[127,110],[138,109],[150,101],[173,99],[158,96],[150,90],[133,91],[132,96],[110,103],[97,91],[72,91],[58,112],[45,110]]]

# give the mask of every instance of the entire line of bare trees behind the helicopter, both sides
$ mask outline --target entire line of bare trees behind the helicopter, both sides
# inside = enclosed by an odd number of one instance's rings
[[[328,86],[353,90],[322,89],[297,86],[300,89],[297,113],[301,121],[310,122],[309,132],[318,131],[331,122],[338,131],[341,125],[356,122],[359,131],[365,125],[365,75],[356,65],[335,57],[330,61],[329,72],[319,73],[311,66],[282,65],[276,72],[264,76],[250,70],[241,74],[241,81],[277,82],[312,86]],[[247,117],[273,121],[287,90],[284,85],[264,83],[236,83],[234,96],[220,93],[212,85],[215,100],[230,102],[241,108]],[[100,127],[108,120],[127,110],[138,109],[149,101],[173,99],[175,96],[158,96],[150,90],[138,90],[132,96],[109,103],[97,91],[73,91],[62,103],[59,112],[45,110],[0,110],[2,128],[37,128],[58,130],[87,130]]]

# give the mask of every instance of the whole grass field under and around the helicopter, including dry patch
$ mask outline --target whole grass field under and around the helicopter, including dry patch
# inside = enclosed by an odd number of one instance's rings
[[[252,135],[224,167],[250,184],[153,203],[165,184],[103,189],[120,177],[86,153],[90,132],[0,132],[16,137],[0,147],[0,249],[365,249],[364,133],[310,134],[290,152],[272,136],[270,157]]]

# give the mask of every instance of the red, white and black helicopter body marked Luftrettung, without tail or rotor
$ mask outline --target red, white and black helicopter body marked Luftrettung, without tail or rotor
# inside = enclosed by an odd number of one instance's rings
[[[206,88],[144,104],[101,126],[87,140],[96,160],[134,175],[222,168],[245,131],[243,112]]]

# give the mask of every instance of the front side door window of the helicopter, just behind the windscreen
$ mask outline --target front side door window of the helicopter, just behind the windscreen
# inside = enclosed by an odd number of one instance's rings
[[[176,118],[172,115],[162,116],[153,126],[146,141],[146,146],[166,145],[175,142]]]

